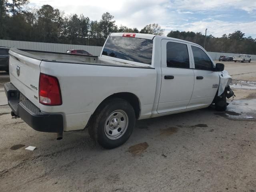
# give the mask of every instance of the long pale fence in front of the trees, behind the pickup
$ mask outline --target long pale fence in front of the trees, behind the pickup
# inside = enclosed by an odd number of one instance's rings
[[[102,47],[100,46],[87,46],[87,45],[70,45],[70,44],[57,44],[57,43],[41,43],[41,42],[28,42],[28,41],[11,41],[11,40],[0,40],[0,46],[15,47],[18,49],[30,49],[38,51],[51,51],[64,53],[68,49],[83,49],[88,51],[90,54],[99,56]],[[219,52],[208,52],[213,60],[218,60],[221,55],[227,56],[238,56],[239,54],[234,53],[219,53]],[[256,55],[250,55],[252,60],[256,60]]]

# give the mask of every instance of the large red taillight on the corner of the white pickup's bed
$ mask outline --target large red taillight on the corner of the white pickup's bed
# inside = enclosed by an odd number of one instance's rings
[[[54,76],[40,73],[39,102],[44,105],[61,105],[60,85]]]

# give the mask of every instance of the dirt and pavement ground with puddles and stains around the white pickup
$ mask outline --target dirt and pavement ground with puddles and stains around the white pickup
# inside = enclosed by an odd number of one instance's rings
[[[224,64],[236,94],[226,112],[210,107],[139,120],[112,150],[87,131],[57,141],[0,106],[0,191],[256,192],[256,63]]]

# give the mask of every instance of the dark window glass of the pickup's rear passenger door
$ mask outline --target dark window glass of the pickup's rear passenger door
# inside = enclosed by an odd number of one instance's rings
[[[168,42],[166,44],[166,63],[167,67],[189,68],[187,45]]]

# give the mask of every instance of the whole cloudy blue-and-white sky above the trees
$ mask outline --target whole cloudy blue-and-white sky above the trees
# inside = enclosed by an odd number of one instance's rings
[[[193,31],[221,37],[236,30],[256,38],[256,0],[30,0],[30,7],[49,4],[69,14],[100,20],[104,12],[116,24],[142,29],[158,23],[171,30]]]

